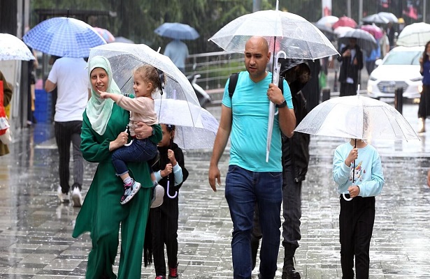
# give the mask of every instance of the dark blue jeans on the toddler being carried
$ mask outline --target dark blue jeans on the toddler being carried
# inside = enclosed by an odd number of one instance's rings
[[[118,176],[129,172],[127,162],[145,162],[157,155],[157,144],[148,139],[134,139],[131,145],[113,151],[112,163]]]

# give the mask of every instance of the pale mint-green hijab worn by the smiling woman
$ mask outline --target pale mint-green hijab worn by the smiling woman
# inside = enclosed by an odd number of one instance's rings
[[[110,68],[108,59],[103,56],[94,56],[88,61],[88,73],[90,81],[91,72],[95,68],[102,68],[103,70],[106,70],[106,73],[108,74],[109,81],[106,92],[120,94],[121,90],[115,83],[115,80],[112,78],[112,68]],[[112,114],[113,103],[115,102],[110,98],[101,98],[91,86],[91,98],[89,98],[87,103],[87,116],[89,123],[91,123],[91,127],[99,135],[103,135],[106,130],[106,126],[108,125],[108,121],[110,119],[110,114]]]

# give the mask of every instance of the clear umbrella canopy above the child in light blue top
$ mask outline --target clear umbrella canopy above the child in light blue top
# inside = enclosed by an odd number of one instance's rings
[[[294,131],[358,140],[419,140],[394,107],[360,95],[333,98],[317,105]]]

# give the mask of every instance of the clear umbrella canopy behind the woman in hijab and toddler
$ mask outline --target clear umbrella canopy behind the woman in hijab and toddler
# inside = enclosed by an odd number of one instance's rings
[[[166,78],[163,95],[154,97],[155,99],[162,98],[161,111],[158,110],[160,119],[161,114],[165,111],[166,114],[171,114],[175,119],[174,122],[163,123],[180,125],[180,126],[195,126],[199,118],[201,107],[199,100],[194,93],[194,89],[187,80],[187,77],[175,66],[168,56],[160,54],[148,45],[136,45],[129,43],[110,43],[107,45],[99,45],[91,49],[89,59],[93,56],[105,56],[112,65],[113,79],[120,87],[123,93],[133,92],[133,75],[134,70],[144,64],[149,64],[161,70]],[[173,99],[182,101],[182,107],[187,108],[187,117],[176,117],[175,110],[169,110],[166,100]],[[184,114],[185,115],[185,114]]]

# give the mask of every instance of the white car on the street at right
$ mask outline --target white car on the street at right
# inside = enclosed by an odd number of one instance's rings
[[[368,77],[367,93],[371,98],[394,98],[397,88],[403,89],[403,98],[420,98],[422,75],[420,57],[422,47],[394,47]]]

